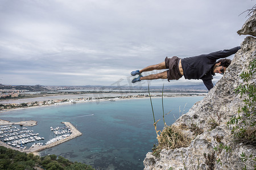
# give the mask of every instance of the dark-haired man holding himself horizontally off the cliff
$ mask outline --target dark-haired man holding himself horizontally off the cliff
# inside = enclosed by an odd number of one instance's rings
[[[183,75],[185,79],[201,79],[204,82],[204,85],[208,90],[213,88],[213,75],[215,73],[224,74],[226,68],[230,65],[230,59],[220,59],[226,58],[235,54],[240,48],[237,46],[228,50],[221,50],[218,52],[213,52],[209,54],[202,54],[200,56],[188,57],[188,58],[179,58],[179,57],[166,57],[164,62],[161,62],[157,65],[147,66],[142,70],[131,71],[131,75],[139,75],[138,78],[131,80],[132,83],[140,82],[141,80],[152,80],[152,79],[168,79],[178,80]],[[216,62],[217,59],[220,59]],[[151,74],[147,76],[142,76],[141,74],[144,71],[152,70],[162,70],[168,69],[162,73]]]

